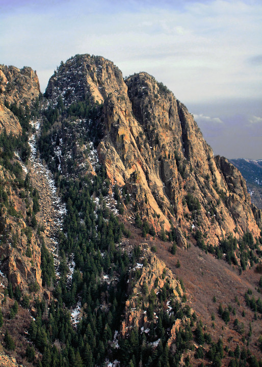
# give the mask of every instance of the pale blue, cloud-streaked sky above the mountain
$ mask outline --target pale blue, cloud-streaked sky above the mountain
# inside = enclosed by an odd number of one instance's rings
[[[44,92],[75,54],[147,71],[215,154],[262,159],[261,0],[0,0],[0,64],[31,66]]]

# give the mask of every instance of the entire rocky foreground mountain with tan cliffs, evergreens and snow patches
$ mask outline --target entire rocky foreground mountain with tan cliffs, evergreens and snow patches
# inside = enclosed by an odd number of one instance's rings
[[[261,211],[184,104],[97,56],[61,62],[44,95],[30,68],[0,70],[5,350],[261,365]]]

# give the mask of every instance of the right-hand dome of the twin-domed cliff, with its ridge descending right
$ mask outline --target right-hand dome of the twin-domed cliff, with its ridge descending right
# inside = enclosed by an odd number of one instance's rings
[[[227,233],[238,236],[249,230],[257,237],[260,231],[241,174],[224,158],[214,158],[186,107],[145,73],[126,83],[135,116],[147,141],[151,139],[150,171],[162,181],[165,192],[159,187],[158,192],[170,200],[175,225],[189,233],[194,224],[213,245]],[[145,156],[150,159],[148,150]]]

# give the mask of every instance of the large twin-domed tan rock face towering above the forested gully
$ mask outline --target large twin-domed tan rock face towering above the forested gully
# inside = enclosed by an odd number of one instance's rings
[[[123,80],[102,57],[77,55],[50,78],[46,96],[56,106],[86,101],[102,109],[99,161],[113,185],[125,186],[142,219],[158,231],[176,228],[177,242],[199,230],[218,245],[229,233],[260,235],[259,215],[240,172],[214,157],[184,104],[163,84],[142,72]]]

